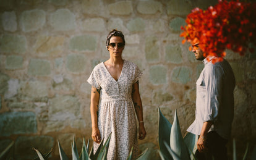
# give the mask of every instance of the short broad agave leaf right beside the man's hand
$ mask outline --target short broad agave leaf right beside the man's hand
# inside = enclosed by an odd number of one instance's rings
[[[183,140],[187,146],[187,149],[189,149],[190,158],[193,158],[193,154],[195,154],[195,151],[197,151],[198,135],[194,135],[193,133],[187,132]]]

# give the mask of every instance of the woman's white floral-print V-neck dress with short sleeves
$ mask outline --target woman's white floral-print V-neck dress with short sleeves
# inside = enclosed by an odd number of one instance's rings
[[[137,65],[124,60],[121,75],[115,80],[101,62],[93,69],[87,82],[100,89],[98,128],[104,143],[112,132],[107,159],[127,159],[132,146],[134,158],[138,156],[137,123],[132,103],[132,85],[142,72]],[[93,143],[94,152],[98,148]]]

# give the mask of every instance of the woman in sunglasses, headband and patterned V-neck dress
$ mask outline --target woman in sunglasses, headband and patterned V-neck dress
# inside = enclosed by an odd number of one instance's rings
[[[107,159],[127,159],[134,147],[138,156],[137,119],[139,139],[146,131],[143,123],[142,101],[139,93],[139,78],[142,72],[137,65],[122,59],[126,41],[122,32],[113,30],[106,40],[109,59],[96,65],[87,82],[92,85],[91,117],[94,151],[102,138],[111,134]]]

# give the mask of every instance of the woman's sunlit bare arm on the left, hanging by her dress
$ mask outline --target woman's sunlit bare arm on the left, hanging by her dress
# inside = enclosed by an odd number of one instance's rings
[[[92,139],[96,143],[100,143],[100,130],[98,128],[98,105],[100,100],[100,90],[92,86],[91,92],[91,118],[92,118]]]

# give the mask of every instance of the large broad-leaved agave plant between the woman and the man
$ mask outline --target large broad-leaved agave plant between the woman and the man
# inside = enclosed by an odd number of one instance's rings
[[[177,110],[175,110],[173,125],[163,116],[160,108],[158,108],[158,113],[158,141],[161,159],[194,159],[198,136],[187,133],[184,138],[182,137]]]

